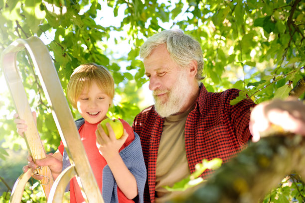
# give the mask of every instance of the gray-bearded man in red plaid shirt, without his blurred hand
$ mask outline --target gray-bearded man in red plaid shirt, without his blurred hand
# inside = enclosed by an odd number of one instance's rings
[[[133,129],[140,135],[148,171],[145,202],[163,203],[176,195],[163,186],[189,176],[202,159],[227,162],[246,146],[252,138],[250,109],[256,104],[248,99],[230,105],[239,94],[236,89],[208,93],[200,83],[200,44],[181,30],[154,34],[140,56],[155,104],[136,116]]]

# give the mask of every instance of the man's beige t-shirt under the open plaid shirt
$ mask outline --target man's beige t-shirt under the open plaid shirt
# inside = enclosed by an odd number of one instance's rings
[[[186,159],[184,128],[188,110],[164,119],[155,170],[155,203],[164,203],[182,192],[169,192],[162,186],[172,187],[190,175]]]

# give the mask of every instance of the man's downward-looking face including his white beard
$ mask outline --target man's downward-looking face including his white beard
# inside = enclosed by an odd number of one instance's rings
[[[156,47],[144,59],[146,75],[150,79],[155,110],[162,117],[180,112],[191,92],[187,71],[181,70],[170,58],[165,45]]]

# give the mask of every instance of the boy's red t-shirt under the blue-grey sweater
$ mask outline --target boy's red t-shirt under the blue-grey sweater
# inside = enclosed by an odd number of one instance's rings
[[[134,139],[135,139],[135,134],[131,126],[122,119],[119,119],[123,123],[124,129],[126,129],[128,133],[128,138],[119,150],[119,152],[124,149],[126,146],[128,146]],[[96,146],[96,135],[95,131],[97,129],[97,125],[99,123],[91,124],[87,121],[85,121],[85,124],[82,125],[79,128],[79,134],[80,138],[82,140],[82,143],[84,145],[89,163],[91,165],[94,177],[97,181],[97,184],[100,188],[100,191],[102,193],[102,185],[103,185],[103,169],[107,165],[106,160],[104,157],[100,154],[97,146]],[[60,141],[60,145],[58,146],[58,150],[63,154],[64,151],[64,146],[62,141]],[[129,200],[126,198],[126,196],[123,194],[123,192],[120,190],[118,187],[118,200],[119,203],[134,203],[134,201]],[[76,178],[74,177],[70,181],[70,203],[83,203],[84,198],[82,196],[80,187],[78,186],[78,183],[76,181]]]

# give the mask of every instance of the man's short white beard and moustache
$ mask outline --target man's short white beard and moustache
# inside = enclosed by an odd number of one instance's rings
[[[178,113],[189,100],[191,86],[188,84],[185,75],[185,71],[180,71],[176,82],[172,84],[170,89],[153,91],[154,108],[161,117],[168,117]],[[165,102],[156,96],[159,93],[166,94]]]

